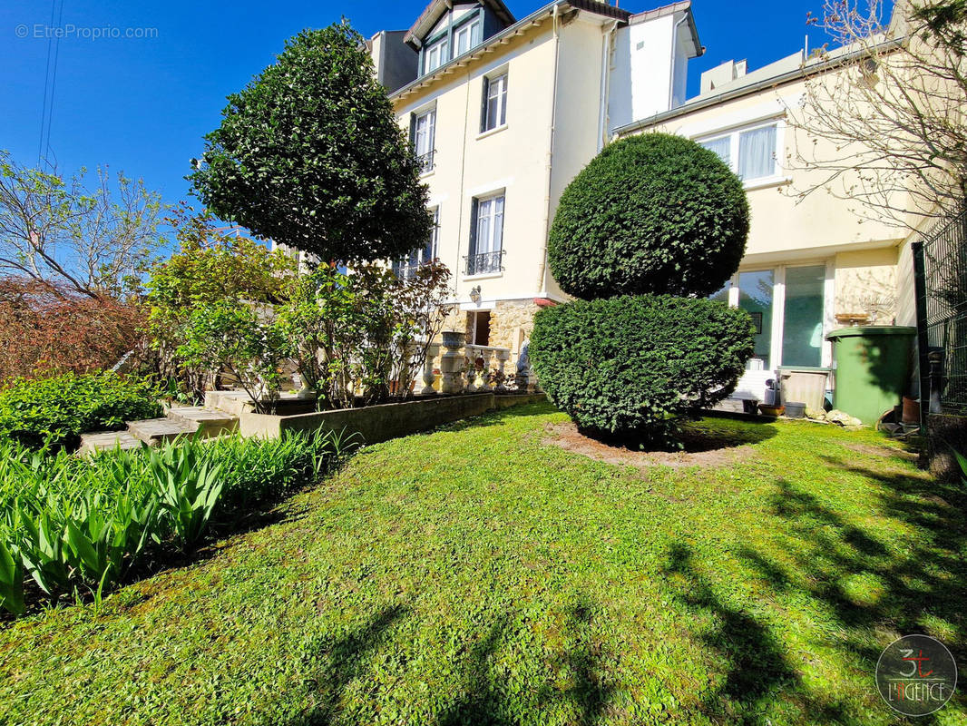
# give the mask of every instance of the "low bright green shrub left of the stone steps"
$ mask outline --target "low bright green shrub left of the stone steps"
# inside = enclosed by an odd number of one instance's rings
[[[15,378],[0,390],[0,438],[27,446],[76,446],[90,431],[161,415],[159,391],[145,378],[112,373]]]

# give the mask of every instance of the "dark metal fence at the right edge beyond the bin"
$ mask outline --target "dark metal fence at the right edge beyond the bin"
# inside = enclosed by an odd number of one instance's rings
[[[967,208],[913,243],[921,411],[967,413]]]

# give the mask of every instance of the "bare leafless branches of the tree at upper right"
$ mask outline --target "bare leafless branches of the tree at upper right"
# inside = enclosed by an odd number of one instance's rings
[[[810,169],[799,197],[825,191],[864,219],[908,229],[942,218],[967,195],[967,63],[963,0],[825,0],[835,49],[806,61],[791,108],[803,132],[789,160]]]

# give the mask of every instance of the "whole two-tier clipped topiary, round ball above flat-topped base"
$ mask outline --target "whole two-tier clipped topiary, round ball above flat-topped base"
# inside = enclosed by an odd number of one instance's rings
[[[548,243],[560,286],[531,338],[550,399],[591,433],[669,442],[734,389],[751,320],[707,298],[739,267],[748,202],[716,154],[678,136],[608,146],[561,197]]]

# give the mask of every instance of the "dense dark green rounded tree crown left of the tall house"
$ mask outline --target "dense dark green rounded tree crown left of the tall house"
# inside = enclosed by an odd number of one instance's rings
[[[403,257],[429,238],[413,147],[345,21],[287,41],[205,138],[196,192],[259,237],[348,264]]]

